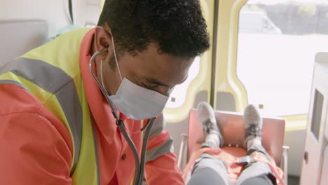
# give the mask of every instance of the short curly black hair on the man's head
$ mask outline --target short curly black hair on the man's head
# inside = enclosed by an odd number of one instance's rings
[[[178,57],[196,57],[210,47],[198,0],[107,0],[98,26],[110,27],[118,51],[134,55],[149,43]]]

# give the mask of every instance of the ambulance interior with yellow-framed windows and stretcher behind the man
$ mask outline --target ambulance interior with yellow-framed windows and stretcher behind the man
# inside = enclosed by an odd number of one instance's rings
[[[104,0],[2,0],[0,66],[81,27],[95,27]],[[242,147],[241,115],[264,116],[264,146],[285,184],[328,184],[328,0],[200,0],[211,47],[196,57],[164,110],[179,167],[203,135],[197,104],[226,121],[227,147]]]

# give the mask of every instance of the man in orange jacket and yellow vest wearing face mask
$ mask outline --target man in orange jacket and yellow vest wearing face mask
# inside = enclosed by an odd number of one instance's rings
[[[6,63],[0,184],[184,184],[161,112],[207,48],[197,0],[107,0],[94,29]]]

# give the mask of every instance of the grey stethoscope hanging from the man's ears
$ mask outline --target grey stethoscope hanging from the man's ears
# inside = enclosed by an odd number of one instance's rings
[[[97,55],[99,55],[100,53],[107,50],[108,47],[109,46],[107,46],[106,48],[103,48],[102,50],[97,51],[93,55],[93,57],[91,57],[89,67],[90,67],[91,74],[93,75],[93,78],[95,78],[96,83],[98,84],[100,90],[102,90],[102,93],[106,97],[107,102],[111,106],[111,113],[113,114],[114,118],[116,119],[116,125],[118,126],[118,129],[123,134],[126,142],[128,142],[130,149],[132,150],[133,156],[135,157],[135,179],[133,181],[133,185],[141,185],[142,181],[144,179],[144,163],[146,160],[146,146],[148,143],[151,128],[153,127],[153,121],[155,121],[155,118],[149,119],[149,121],[146,123],[146,125],[144,125],[144,127],[141,129],[141,131],[143,131],[145,129],[146,129],[146,131],[144,132],[144,137],[142,139],[142,153],[141,153],[141,163],[140,163],[137,149],[135,147],[135,144],[132,142],[131,137],[128,135],[128,132],[126,132],[126,130],[125,130],[125,125],[124,125],[123,120],[121,120],[121,118],[118,117],[116,109],[114,109],[113,102],[111,102],[111,100],[109,99],[109,95],[108,95],[107,91],[100,84],[100,81],[98,81],[98,79],[95,76],[95,73],[93,71],[93,63],[94,63],[95,57],[97,57]]]

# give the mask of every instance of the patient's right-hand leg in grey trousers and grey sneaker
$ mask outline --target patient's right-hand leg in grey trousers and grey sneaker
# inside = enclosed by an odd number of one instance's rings
[[[261,144],[261,128],[262,119],[259,116],[259,111],[249,105],[245,109],[245,148],[247,155],[258,151],[259,155],[268,158],[268,153]],[[237,185],[266,185],[275,184],[275,177],[272,174],[269,165],[262,161],[249,163],[244,167],[240,177],[238,178]]]

